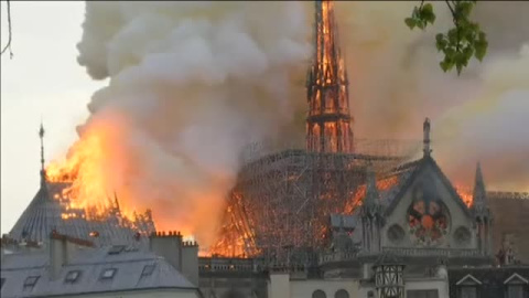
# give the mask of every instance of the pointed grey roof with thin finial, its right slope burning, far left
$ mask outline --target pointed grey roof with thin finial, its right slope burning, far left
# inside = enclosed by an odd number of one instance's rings
[[[118,198],[107,198],[107,204],[99,209],[76,206],[72,182],[55,181],[44,169],[44,128],[41,137],[41,187],[9,233],[9,238],[20,243],[44,243],[52,233],[91,241],[105,246],[119,243],[143,242],[155,232],[151,211],[122,215]]]

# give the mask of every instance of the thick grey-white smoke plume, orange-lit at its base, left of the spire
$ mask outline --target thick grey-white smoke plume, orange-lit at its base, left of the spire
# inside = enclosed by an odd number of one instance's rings
[[[109,187],[207,246],[242,148],[293,120],[305,17],[298,2],[87,2],[78,62],[109,84],[79,136],[115,130]]]

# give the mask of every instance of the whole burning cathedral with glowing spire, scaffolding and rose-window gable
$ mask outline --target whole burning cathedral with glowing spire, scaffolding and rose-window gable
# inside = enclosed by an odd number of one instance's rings
[[[477,164],[472,200],[464,200],[434,160],[428,118],[420,158],[411,159],[413,148],[366,150],[353,134],[332,1],[315,2],[314,31],[305,146],[247,160],[228,195],[217,242],[196,264],[201,292],[259,298],[478,297],[485,283],[481,268],[516,263],[509,241],[501,238],[508,211],[498,206],[528,202],[522,199],[529,194],[487,192]],[[41,138],[43,134],[41,129]],[[66,202],[67,187],[48,181],[43,168],[41,188],[9,238],[37,243],[55,231],[76,238],[89,235],[105,246],[160,235],[149,211],[136,214],[134,221],[121,216],[116,195],[109,195],[114,207],[102,220],[95,220],[97,212],[73,209]],[[519,207],[523,209],[527,204]],[[529,234],[527,225],[518,231]],[[519,240],[520,255],[527,254],[523,241]],[[527,283],[529,270],[501,274],[507,287]],[[522,289],[527,297],[527,285]]]

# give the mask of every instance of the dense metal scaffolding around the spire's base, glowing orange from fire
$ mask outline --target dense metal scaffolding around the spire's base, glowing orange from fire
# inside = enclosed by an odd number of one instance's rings
[[[300,142],[248,147],[212,253],[311,263],[313,252],[328,245],[328,216],[344,213],[365,183],[366,167],[384,175],[421,148],[417,140],[355,145],[355,153],[311,152]]]

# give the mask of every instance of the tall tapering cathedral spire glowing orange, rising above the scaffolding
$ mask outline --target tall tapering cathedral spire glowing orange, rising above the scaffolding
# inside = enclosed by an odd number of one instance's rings
[[[348,79],[333,1],[315,1],[314,57],[307,73],[307,150],[352,152]]]

